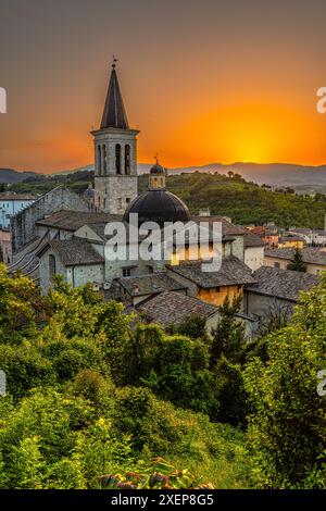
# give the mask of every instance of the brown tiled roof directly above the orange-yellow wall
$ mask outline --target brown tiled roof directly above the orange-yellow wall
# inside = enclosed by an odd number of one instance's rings
[[[187,261],[175,266],[170,264],[167,267],[202,288],[237,286],[255,282],[250,267],[235,256],[224,258],[217,272],[203,272],[202,263],[203,261]]]

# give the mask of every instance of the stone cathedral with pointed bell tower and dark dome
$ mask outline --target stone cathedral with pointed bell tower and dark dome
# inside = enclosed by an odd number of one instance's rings
[[[244,229],[224,217],[192,216],[184,201],[166,189],[166,171],[158,159],[149,173],[148,190],[138,195],[137,136],[138,129],[129,126],[118,84],[115,61],[99,129],[91,132],[95,148],[95,182],[85,197],[62,189],[27,209],[14,220],[14,239],[18,248],[12,271],[27,269],[28,274],[47,292],[57,274],[73,287],[91,283],[105,296],[129,303],[140,303],[161,291],[181,292],[218,307],[225,297],[241,295],[254,279],[246,266]],[[75,197],[76,196],[76,197]],[[111,260],[106,257],[105,227],[111,222],[128,225],[130,215],[137,213],[138,225],[155,222],[162,230],[166,222],[183,226],[192,221],[222,225],[221,270],[201,271],[206,254],[198,253],[198,239],[186,247],[173,240],[171,258],[145,261]],[[197,227],[198,226],[198,227]],[[184,227],[181,227],[184,228]],[[160,241],[161,242],[161,241]],[[129,240],[126,240],[129,245]],[[164,256],[165,257],[165,256]],[[187,300],[186,300],[187,302]],[[185,300],[183,304],[185,306]],[[190,303],[190,302],[189,302]]]

